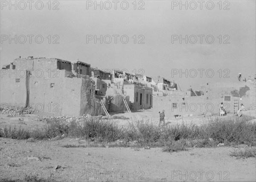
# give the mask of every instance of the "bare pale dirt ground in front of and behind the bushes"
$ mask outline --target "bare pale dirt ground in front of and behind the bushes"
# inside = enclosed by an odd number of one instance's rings
[[[150,111],[116,114],[145,119],[158,124]],[[253,115],[253,112],[251,113]],[[228,118],[233,116],[225,116]],[[8,118],[1,115],[0,128],[16,125],[38,128],[34,114]],[[126,126],[130,119],[114,119]],[[203,123],[203,117],[183,118],[186,122]],[[174,118],[170,124],[182,122]],[[65,148],[64,145],[80,145]],[[100,144],[102,145],[102,144]],[[24,176],[55,181],[256,181],[256,159],[236,159],[231,147],[189,148],[188,151],[163,152],[162,148],[88,147],[85,140],[15,140],[0,138],[0,179],[23,180]],[[244,147],[244,146],[239,146]],[[59,165],[59,166],[58,166]],[[57,167],[58,166],[58,167]],[[57,168],[57,169],[56,169]]]

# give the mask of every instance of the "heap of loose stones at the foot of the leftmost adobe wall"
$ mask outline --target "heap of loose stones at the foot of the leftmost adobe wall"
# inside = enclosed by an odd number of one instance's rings
[[[0,108],[0,114],[8,114],[7,117],[23,116],[24,114],[33,114],[32,108]]]

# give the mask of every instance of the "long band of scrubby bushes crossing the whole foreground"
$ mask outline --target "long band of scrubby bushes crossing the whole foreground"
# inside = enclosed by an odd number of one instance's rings
[[[256,123],[252,117],[235,120],[207,119],[202,125],[192,123],[167,125],[159,128],[150,121],[130,122],[128,128],[104,119],[84,119],[83,122],[64,124],[61,119],[49,122],[36,130],[3,128],[0,137],[12,139],[52,139],[58,136],[97,139],[102,142],[122,141],[122,145],[164,147],[164,151],[186,150],[187,147],[214,147],[246,144],[256,146]],[[136,141],[136,142],[134,142]],[[135,143],[135,144],[134,144]]]

